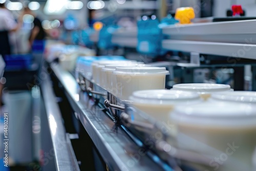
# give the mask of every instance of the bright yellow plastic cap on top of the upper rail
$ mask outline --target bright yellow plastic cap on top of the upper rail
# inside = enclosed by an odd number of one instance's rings
[[[195,11],[192,7],[177,8],[175,19],[180,21],[180,24],[190,24],[190,20],[195,18]]]

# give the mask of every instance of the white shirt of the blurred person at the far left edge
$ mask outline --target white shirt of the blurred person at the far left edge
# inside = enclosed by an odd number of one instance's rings
[[[17,23],[12,13],[8,9],[0,8],[0,31],[9,31],[16,27]]]

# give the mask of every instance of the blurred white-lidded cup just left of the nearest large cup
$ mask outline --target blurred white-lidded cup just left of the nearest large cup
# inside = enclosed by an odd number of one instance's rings
[[[169,115],[176,106],[203,102],[197,93],[170,90],[136,91],[129,99],[139,110],[167,125],[171,123]]]

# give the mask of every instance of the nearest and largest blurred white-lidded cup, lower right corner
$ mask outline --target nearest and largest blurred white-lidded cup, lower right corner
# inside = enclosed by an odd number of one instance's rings
[[[219,160],[224,165],[220,170],[255,170],[256,111],[251,105],[208,101],[177,106],[170,117],[177,126],[178,147],[211,156],[210,169]]]

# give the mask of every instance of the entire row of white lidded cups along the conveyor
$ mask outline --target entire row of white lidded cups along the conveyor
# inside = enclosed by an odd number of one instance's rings
[[[164,90],[169,72],[136,61],[94,61],[86,71],[100,87],[162,123],[175,137],[169,144],[212,156],[207,168],[255,170],[256,92],[193,83]]]

